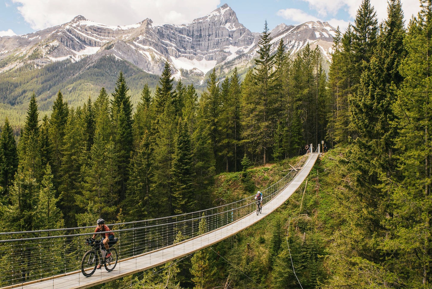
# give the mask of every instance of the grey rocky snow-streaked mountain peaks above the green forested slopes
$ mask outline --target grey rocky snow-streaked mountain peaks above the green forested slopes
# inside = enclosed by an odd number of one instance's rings
[[[335,29],[327,22],[280,24],[271,31],[273,47],[281,38],[291,53],[307,43],[318,45],[330,59]],[[259,33],[238,22],[235,12],[223,5],[210,14],[182,24],[155,23],[151,19],[127,26],[108,26],[76,16],[72,21],[35,33],[0,37],[0,72],[31,63],[35,67],[91,57],[127,60],[146,72],[161,74],[165,60],[177,78],[182,71],[203,77],[216,65],[238,57],[247,63],[256,56]]]

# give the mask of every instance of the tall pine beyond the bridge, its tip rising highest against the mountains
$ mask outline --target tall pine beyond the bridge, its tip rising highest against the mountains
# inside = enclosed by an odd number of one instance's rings
[[[270,116],[273,113],[271,108],[274,103],[274,87],[272,83],[274,74],[274,55],[271,55],[272,38],[267,27],[267,20],[264,23],[264,31],[260,38],[260,42],[258,43],[259,50],[257,50],[260,57],[259,59],[255,59],[256,66],[254,67],[254,70],[256,71],[256,74],[254,75],[254,78],[257,82],[257,96],[259,100],[257,108],[260,115],[258,131],[258,134],[260,135],[260,150],[262,150],[263,162],[265,164],[267,162],[267,151],[271,146],[270,133],[272,126]]]

